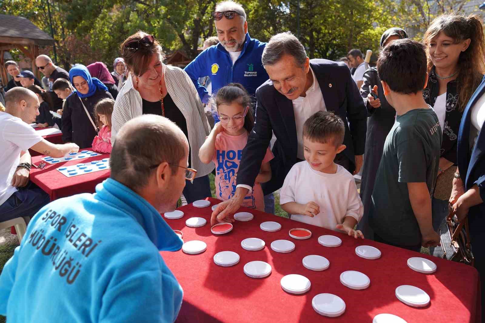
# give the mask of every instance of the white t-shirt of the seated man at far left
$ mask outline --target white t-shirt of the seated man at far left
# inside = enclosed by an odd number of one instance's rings
[[[29,124],[10,113],[0,112],[0,205],[3,204],[17,188],[11,185],[17,165],[20,163],[20,152],[42,140]]]

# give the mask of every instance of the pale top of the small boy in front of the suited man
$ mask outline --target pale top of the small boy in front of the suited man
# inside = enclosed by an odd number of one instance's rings
[[[317,203],[320,213],[313,218],[293,214],[291,220],[330,230],[338,231],[336,226],[343,223],[345,216],[359,221],[364,213],[354,177],[340,165],[337,165],[337,173],[326,174],[313,170],[307,161],[297,162],[286,176],[279,195],[280,204]]]

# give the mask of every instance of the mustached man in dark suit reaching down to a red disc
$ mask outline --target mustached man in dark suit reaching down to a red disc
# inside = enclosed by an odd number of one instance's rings
[[[317,111],[331,111],[347,121],[343,142],[346,148],[337,155],[336,162],[354,174],[362,166],[367,111],[349,68],[341,62],[310,61],[291,32],[271,37],[263,51],[262,64],[270,79],[256,91],[256,122],[242,151],[236,192],[214,210],[212,223],[234,221],[229,215],[239,209],[254,185],[272,132],[276,136],[275,158],[270,161],[272,178],[262,184],[263,193],[272,193],[282,186],[291,167],[305,159],[303,124]]]

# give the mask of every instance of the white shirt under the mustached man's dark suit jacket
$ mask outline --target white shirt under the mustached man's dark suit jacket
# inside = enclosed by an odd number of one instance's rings
[[[311,67],[310,71],[313,76],[313,84],[307,90],[306,96],[297,97],[294,100],[291,100],[291,103],[293,103],[293,111],[295,113],[296,139],[298,141],[297,157],[299,159],[305,159],[305,156],[303,155],[303,124],[312,114],[319,111],[327,111],[320,85],[318,84],[318,80]]]

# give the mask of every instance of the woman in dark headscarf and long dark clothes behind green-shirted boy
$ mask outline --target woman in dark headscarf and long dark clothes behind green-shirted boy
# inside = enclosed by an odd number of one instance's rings
[[[381,36],[380,49],[383,50],[388,44],[396,39],[407,38],[407,33],[401,28],[389,28]],[[367,134],[365,140],[365,160],[362,165],[362,178],[360,180],[360,198],[364,204],[364,215],[357,224],[366,239],[373,240],[374,233],[369,226],[369,209],[371,207],[371,196],[374,190],[374,181],[379,168],[379,163],[384,149],[386,137],[394,125],[396,110],[389,104],[382,90],[381,80],[377,75],[377,67],[371,67],[364,73],[364,82],[360,88],[360,95],[364,99],[367,108]],[[377,95],[374,99],[370,94]]]

